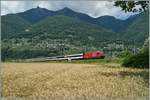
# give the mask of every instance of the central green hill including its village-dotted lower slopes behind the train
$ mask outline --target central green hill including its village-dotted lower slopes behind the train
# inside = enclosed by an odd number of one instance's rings
[[[115,33],[63,15],[49,16],[22,32],[2,40],[2,59],[34,58],[102,49],[102,41]],[[92,43],[92,44],[91,44]]]

